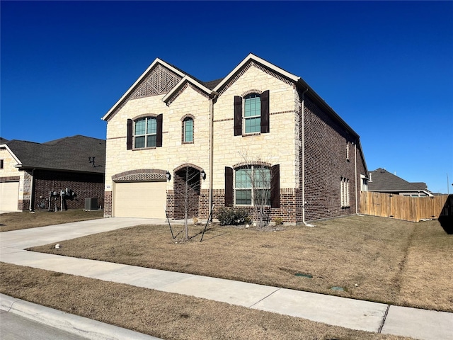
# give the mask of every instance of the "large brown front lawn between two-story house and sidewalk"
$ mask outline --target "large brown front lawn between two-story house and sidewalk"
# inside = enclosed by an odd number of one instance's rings
[[[439,222],[351,216],[315,224],[213,226],[202,242],[178,243],[168,225],[142,225],[31,250],[453,312],[453,235]]]

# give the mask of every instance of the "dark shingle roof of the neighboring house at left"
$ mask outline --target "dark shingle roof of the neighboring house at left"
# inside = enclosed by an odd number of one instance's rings
[[[105,140],[76,135],[45,143],[10,140],[5,143],[22,168],[91,173],[105,172]],[[95,157],[95,165],[88,162]]]

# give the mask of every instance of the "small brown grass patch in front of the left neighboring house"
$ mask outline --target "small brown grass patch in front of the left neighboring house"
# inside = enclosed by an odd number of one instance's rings
[[[30,212],[8,212],[0,215],[0,232],[11,230],[44,227],[46,225],[59,225],[60,223],[93,220],[103,217],[103,210],[84,211],[67,210],[49,212],[47,210],[36,210]]]

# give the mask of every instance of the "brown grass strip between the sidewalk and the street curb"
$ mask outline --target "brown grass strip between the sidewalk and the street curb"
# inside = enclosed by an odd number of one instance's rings
[[[223,302],[0,263],[0,292],[167,340],[403,340]]]

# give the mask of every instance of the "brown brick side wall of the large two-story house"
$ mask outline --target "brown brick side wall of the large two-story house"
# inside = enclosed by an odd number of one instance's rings
[[[309,96],[304,101],[305,121],[305,220],[350,215],[356,212],[355,159],[353,136],[326,114]],[[302,125],[301,125],[302,127]],[[302,132],[301,132],[302,136]],[[349,160],[347,157],[347,143]],[[302,149],[301,149],[302,159]],[[357,162],[359,165],[360,162]],[[360,169],[357,176],[360,179]],[[349,208],[341,205],[340,180],[349,179]],[[357,181],[357,186],[360,182]],[[300,202],[300,207],[303,203]]]

